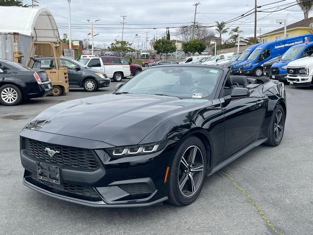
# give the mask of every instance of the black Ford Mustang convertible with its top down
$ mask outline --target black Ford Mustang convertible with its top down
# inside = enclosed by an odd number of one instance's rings
[[[26,125],[24,185],[87,206],[185,206],[206,175],[283,138],[280,82],[221,66],[161,65],[115,89],[52,106]]]

